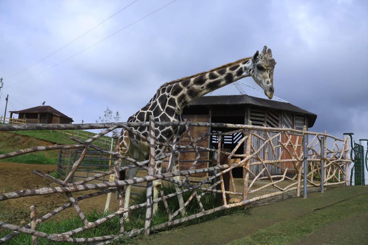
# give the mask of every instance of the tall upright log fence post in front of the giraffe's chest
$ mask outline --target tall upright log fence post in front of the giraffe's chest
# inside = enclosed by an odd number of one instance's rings
[[[155,119],[153,116],[149,116],[149,163],[148,163],[148,175],[153,174],[153,167],[155,166]],[[147,209],[146,209],[146,221],[144,223],[144,234],[149,236],[151,228],[152,217],[152,181],[147,181]]]

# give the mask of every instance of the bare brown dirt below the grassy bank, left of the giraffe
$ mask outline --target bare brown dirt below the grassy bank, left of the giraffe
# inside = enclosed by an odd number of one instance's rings
[[[50,173],[56,170],[56,165],[24,164],[14,162],[0,162],[0,193],[18,191],[31,188],[54,187],[52,181],[36,176],[32,173],[33,169],[44,173]],[[94,191],[89,191],[94,192]],[[78,197],[89,192],[77,192],[74,197]],[[113,195],[114,197],[114,195]],[[83,211],[97,209],[103,211],[105,207],[106,195],[93,197],[78,202]],[[12,224],[21,224],[23,220],[28,220],[29,206],[38,206],[40,215],[44,215],[51,210],[67,203],[68,199],[63,194],[38,195],[33,197],[24,197],[21,199],[10,199],[0,202],[0,220]],[[110,208],[116,210],[118,202],[110,204]],[[70,208],[56,215],[54,219],[65,218],[67,215],[76,214],[75,210]]]

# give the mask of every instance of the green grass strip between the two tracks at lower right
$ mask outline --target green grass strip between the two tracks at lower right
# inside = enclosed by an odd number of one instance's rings
[[[368,195],[361,195],[324,209],[284,221],[228,245],[286,245],[319,228],[368,211]]]

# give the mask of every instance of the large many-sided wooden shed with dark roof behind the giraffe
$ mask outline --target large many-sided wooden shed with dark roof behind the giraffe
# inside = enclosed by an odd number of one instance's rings
[[[287,127],[302,130],[303,126],[308,128],[314,125],[317,115],[306,111],[300,107],[297,107],[288,102],[281,102],[275,100],[268,100],[253,96],[242,95],[225,95],[225,96],[204,96],[198,98],[197,100],[191,102],[183,110],[183,118],[190,122],[213,122],[213,123],[234,123],[234,124],[249,124],[267,127]],[[232,131],[233,129],[217,129],[217,128],[205,128],[197,127],[195,129],[190,129],[193,137],[198,137],[204,133],[215,132],[215,131]],[[261,130],[255,130],[263,138],[266,137],[265,132]],[[270,136],[275,135],[270,131]],[[291,137],[297,137],[297,135],[291,135]],[[222,148],[233,149],[238,141],[242,138],[241,133],[234,135],[224,136],[222,140]],[[299,137],[299,142],[301,142]],[[283,137],[275,138],[273,144],[277,145],[278,140],[283,143],[286,139]],[[183,142],[184,141],[184,142]],[[182,139],[182,143],[187,143],[188,139]],[[260,146],[263,143],[258,138],[253,137],[252,144],[254,147]],[[214,147],[217,148],[218,138],[213,136],[197,143],[199,146],[204,147]],[[243,143],[244,145],[244,143]],[[300,151],[300,149],[297,149]],[[269,152],[272,151],[269,149]],[[244,147],[239,147],[236,154],[244,154]],[[261,152],[260,155],[264,154]],[[273,158],[278,158],[280,152],[277,152],[276,157],[273,154],[268,154],[269,160]],[[210,159],[212,156],[208,152],[201,153],[202,162],[197,163],[197,167],[206,167],[208,162],[205,160]],[[282,155],[282,159],[288,159],[289,156],[286,154]],[[192,162],[190,159],[195,159],[195,154],[181,153],[180,154],[180,169],[188,169]],[[255,160],[254,160],[255,161]],[[290,165],[290,166],[289,166]],[[253,166],[256,167],[256,166]],[[289,169],[293,167],[292,163],[284,163],[283,167],[288,167]],[[252,169],[254,173],[258,173],[261,169]],[[270,165],[269,171],[273,174],[280,173],[280,169]],[[292,173],[293,170],[289,171]],[[242,170],[233,171],[234,177],[242,177]]]

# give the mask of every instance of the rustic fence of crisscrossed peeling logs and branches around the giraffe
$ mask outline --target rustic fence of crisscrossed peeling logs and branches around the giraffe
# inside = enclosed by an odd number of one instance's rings
[[[154,137],[154,128],[157,126],[184,126],[187,130],[190,143],[187,145],[176,144],[170,145],[166,142],[158,142]],[[138,137],[149,142],[151,147],[150,158],[145,161],[138,162],[128,156],[122,156],[118,152],[105,149],[96,144],[93,144],[95,140],[101,138],[105,134],[116,128],[125,128],[131,130],[132,127],[145,126],[150,129],[150,137],[146,138],[144,136],[138,135]],[[206,133],[198,138],[192,138],[188,126],[199,126],[199,127],[216,127],[224,128],[227,130],[233,130],[230,132],[212,132]],[[288,191],[295,191],[297,196],[300,196],[301,190],[304,189],[304,197],[307,195],[307,187],[321,187],[323,191],[323,186],[337,185],[337,184],[347,184],[348,183],[348,164],[351,163],[349,159],[349,144],[348,137],[343,139],[331,136],[326,133],[316,133],[304,130],[287,129],[287,128],[270,128],[252,125],[237,125],[237,124],[225,124],[225,123],[202,123],[202,122],[136,122],[136,123],[94,123],[94,124],[23,124],[23,125],[0,125],[0,131],[17,131],[17,130],[85,130],[85,129],[104,129],[98,134],[89,137],[86,140],[82,140],[75,136],[70,136],[70,138],[77,142],[74,145],[52,145],[52,146],[38,146],[28,149],[20,149],[18,151],[9,152],[6,154],[0,154],[0,159],[10,158],[12,156],[18,156],[36,151],[48,151],[55,149],[81,149],[82,152],[78,155],[78,159],[74,159],[74,163],[70,163],[71,169],[65,173],[65,179],[56,179],[46,173],[42,173],[38,170],[33,170],[33,173],[43,177],[47,180],[53,181],[60,185],[60,187],[52,188],[40,188],[31,190],[14,191],[0,194],[0,201],[7,199],[21,198],[34,195],[45,195],[54,193],[65,193],[67,197],[67,202],[47,213],[46,215],[39,216],[38,219],[32,221],[32,224],[27,224],[23,227],[16,226],[13,224],[8,224],[0,221],[0,227],[13,230],[9,235],[0,238],[0,244],[8,241],[9,239],[15,237],[20,233],[30,234],[34,238],[42,237],[52,241],[65,241],[73,243],[89,243],[89,244],[107,244],[114,241],[120,237],[134,237],[138,234],[144,233],[149,235],[152,231],[158,231],[163,228],[176,226],[177,224],[189,221],[192,219],[197,219],[199,217],[209,215],[211,213],[233,208],[236,206],[244,206],[248,203],[254,202],[256,200],[272,197],[275,195],[281,195]],[[256,130],[262,130],[265,133],[259,135]],[[225,130],[226,131],[226,130]],[[237,143],[236,147],[230,151],[226,152],[222,150],[221,138],[223,135],[229,135],[233,133],[243,133],[243,138]],[[272,132],[272,134],[270,134]],[[135,133],[135,132],[134,132]],[[137,133],[135,133],[137,134]],[[206,137],[216,136],[218,139],[217,149],[208,147],[199,147],[195,143]],[[255,137],[259,140],[259,146],[252,144],[252,138]],[[283,138],[283,140],[282,140]],[[309,139],[308,139],[309,138]],[[301,141],[300,141],[301,140]],[[328,142],[327,142],[328,141]],[[163,156],[155,156],[155,144],[165,145],[167,147],[173,148],[171,152]],[[244,146],[244,154],[236,154],[236,150]],[[329,146],[329,147],[328,147]],[[72,176],[77,171],[78,167],[81,166],[81,162],[86,156],[89,148],[93,148],[97,151],[103,152],[112,157],[113,169],[96,173],[91,177],[87,177],[83,180],[78,180],[72,182]],[[194,151],[196,158],[193,161],[192,166],[188,170],[180,170],[174,172],[166,172],[162,174],[157,174],[153,172],[153,164],[155,161],[159,161],[165,158],[171,160],[173,154],[183,150],[189,149]],[[217,163],[215,165],[205,168],[196,169],[195,163],[199,161],[199,151],[209,151],[217,154]],[[270,151],[270,152],[268,152]],[[220,155],[226,155],[229,160],[227,164],[220,165]],[[269,159],[269,156],[273,155],[273,159]],[[277,155],[277,158],[275,158]],[[240,161],[231,162],[233,157],[241,158]],[[123,159],[127,161],[127,166],[119,166],[118,159]],[[169,163],[170,163],[169,160]],[[322,165],[321,165],[322,163]],[[1,164],[1,163],[0,163]],[[280,169],[279,174],[271,174],[268,170],[268,166],[272,165]],[[304,165],[304,166],[303,166]],[[148,174],[144,177],[135,177],[133,179],[118,180],[120,171],[131,169],[134,167],[141,167],[146,170]],[[254,171],[254,166],[259,172]],[[231,172],[235,168],[241,168],[243,170],[243,180],[241,181],[241,187],[237,186]],[[292,170],[292,171],[291,171]],[[230,173],[230,190],[226,190],[224,182],[224,174]],[[195,183],[190,183],[187,181],[188,176],[196,173],[209,173],[207,177],[195,181]],[[261,176],[265,173],[265,176]],[[114,174],[117,181],[107,182],[107,183],[89,183],[93,180],[99,179],[104,176]],[[174,176],[183,176],[181,181],[175,181],[170,179]],[[173,192],[170,194],[165,194],[160,191],[160,197],[157,199],[152,199],[152,181],[163,179],[170,181],[171,183],[178,184],[182,187],[180,191]],[[147,196],[146,202],[132,205],[128,208],[123,208],[123,189],[125,185],[147,183]],[[209,187],[204,184],[210,183]],[[260,184],[258,184],[260,183]],[[322,183],[322,185],[321,185]],[[219,185],[219,188],[216,188]],[[236,190],[236,189],[240,190]],[[81,197],[74,198],[74,192],[86,191],[86,190],[96,190],[93,193],[82,195]],[[198,194],[198,190],[202,193]],[[265,191],[267,190],[267,191]],[[98,195],[104,195],[110,192],[119,192],[119,208],[116,212],[102,217],[95,221],[88,221],[84,216],[84,213],[78,206],[78,202],[86,199],[96,197]],[[201,211],[189,216],[178,217],[176,216],[180,213],[180,209],[173,213],[170,213],[169,206],[167,204],[167,199],[176,197],[177,195],[191,191],[192,195],[184,203],[188,205],[191,199],[195,197],[201,207]],[[267,194],[265,194],[267,192]],[[219,193],[222,195],[223,205],[216,208],[205,210],[201,198],[204,197],[206,193]],[[237,198],[236,201],[230,202],[227,195]],[[168,220],[159,225],[151,225],[152,216],[152,205],[153,203],[163,202],[165,210],[167,211]],[[73,207],[77,212],[77,215],[83,221],[84,226],[76,228],[74,230],[67,231],[62,234],[47,234],[42,231],[36,230],[36,225],[42,223],[43,221],[49,219],[50,217],[56,215],[57,213]],[[125,212],[130,212],[135,209],[146,208],[146,219],[145,227],[141,229],[133,229],[129,232],[124,231],[124,219],[123,214]],[[91,237],[91,238],[73,238],[72,235],[80,233],[82,231],[94,228],[113,217],[120,217],[120,233],[119,234],[106,234],[101,237]],[[35,216],[33,216],[35,217]],[[34,239],[37,241],[37,239]]]

